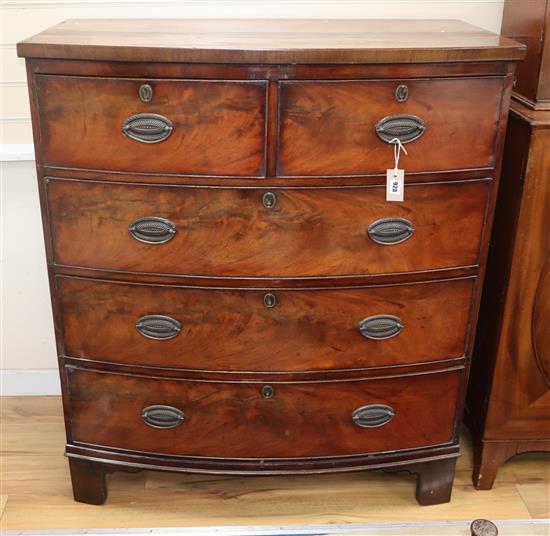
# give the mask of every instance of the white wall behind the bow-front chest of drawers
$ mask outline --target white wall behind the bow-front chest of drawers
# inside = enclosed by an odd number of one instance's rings
[[[2,394],[58,392],[38,192],[29,159],[25,70],[16,57],[17,41],[67,18],[124,17],[454,18],[498,33],[503,5],[504,0],[3,0]]]

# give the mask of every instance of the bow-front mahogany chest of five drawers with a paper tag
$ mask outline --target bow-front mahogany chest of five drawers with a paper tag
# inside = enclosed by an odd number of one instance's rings
[[[457,21],[88,20],[18,52],[75,499],[112,470],[372,468],[448,501],[523,48]]]

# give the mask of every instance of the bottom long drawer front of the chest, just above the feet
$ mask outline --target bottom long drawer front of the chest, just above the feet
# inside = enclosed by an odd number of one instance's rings
[[[72,367],[67,374],[74,442],[231,458],[338,456],[449,442],[462,376],[454,370],[266,385]]]

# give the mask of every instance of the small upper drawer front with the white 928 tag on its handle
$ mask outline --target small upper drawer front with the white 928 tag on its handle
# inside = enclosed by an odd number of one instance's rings
[[[400,94],[402,85],[407,89]],[[281,82],[279,87],[280,175],[385,173],[394,166],[393,147],[379,137],[377,125],[386,139],[395,128],[399,136],[420,136],[405,145],[408,156],[402,155],[400,165],[407,173],[494,165],[499,78]],[[397,100],[404,96],[404,102]],[[399,124],[402,116],[415,116],[421,124]],[[393,119],[379,124],[386,117]]]

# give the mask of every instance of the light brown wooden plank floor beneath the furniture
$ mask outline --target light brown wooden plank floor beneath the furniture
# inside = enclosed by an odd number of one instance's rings
[[[2,530],[550,517],[550,456],[516,457],[502,467],[493,490],[476,491],[467,436],[453,498],[446,505],[420,507],[413,477],[377,471],[244,478],[115,473],[109,476],[104,506],[79,504],[72,499],[63,457],[60,399],[4,397],[0,403]],[[548,526],[541,528],[537,534],[544,534]]]

